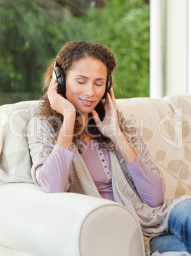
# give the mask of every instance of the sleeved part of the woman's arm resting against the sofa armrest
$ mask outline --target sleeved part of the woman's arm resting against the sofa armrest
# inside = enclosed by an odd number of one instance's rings
[[[41,185],[46,192],[67,191],[74,153],[56,145],[58,134],[46,118],[32,118],[27,127],[27,135],[34,183]]]

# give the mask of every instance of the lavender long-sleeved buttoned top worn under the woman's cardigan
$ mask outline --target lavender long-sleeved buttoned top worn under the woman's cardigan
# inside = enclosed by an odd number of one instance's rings
[[[105,199],[114,201],[112,192],[112,173],[109,150],[96,145],[96,141],[85,142],[81,140],[84,160],[100,195]],[[39,173],[39,185],[46,192],[63,192],[70,173],[70,164],[74,153],[66,148],[58,150],[55,145],[48,159],[44,162]],[[138,194],[150,206],[159,206],[164,201],[163,182],[159,175],[152,171],[140,156],[135,162],[127,164],[129,173],[134,181]]]

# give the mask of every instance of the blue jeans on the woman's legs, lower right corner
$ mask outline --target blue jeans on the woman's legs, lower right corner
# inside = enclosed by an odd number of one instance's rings
[[[169,216],[171,234],[156,236],[150,240],[151,253],[163,252],[191,253],[191,199],[175,206]]]

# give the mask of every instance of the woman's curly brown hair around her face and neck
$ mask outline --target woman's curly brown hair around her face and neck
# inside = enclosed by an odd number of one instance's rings
[[[88,41],[71,41],[63,45],[62,49],[58,53],[56,57],[56,61],[58,65],[63,69],[63,73],[65,76],[69,73],[72,68],[75,67],[75,62],[78,60],[84,59],[86,57],[91,57],[95,60],[101,60],[103,64],[107,67],[107,82],[109,83],[110,76],[115,69],[116,61],[114,54],[111,52],[109,46],[103,46],[99,43],[92,43]],[[46,69],[46,73],[44,73],[44,87],[43,87],[43,101],[41,102],[39,109],[37,110],[38,117],[46,117],[51,120],[51,123],[57,131],[60,128],[60,125],[63,122],[63,115],[53,110],[50,106],[48,95],[46,93],[46,89],[49,87],[49,83],[51,82],[53,69],[55,65],[55,60],[51,62],[50,66]],[[100,120],[103,120],[105,117],[105,110],[104,110],[104,99],[101,99],[100,102],[97,104],[95,110],[98,113]],[[78,116],[78,113],[77,113]],[[102,144],[103,141],[109,143],[109,138],[103,136],[103,134],[98,131],[95,121],[91,118],[92,115],[89,113],[88,118],[88,125],[87,125],[87,133],[93,134],[93,138],[98,141],[98,143]],[[60,120],[60,122],[58,122]],[[74,137],[73,142],[79,145],[79,138],[81,138],[81,131],[82,125],[79,124],[76,118],[76,122],[74,125]],[[75,134],[78,134],[77,136]],[[79,150],[80,151],[80,150]]]

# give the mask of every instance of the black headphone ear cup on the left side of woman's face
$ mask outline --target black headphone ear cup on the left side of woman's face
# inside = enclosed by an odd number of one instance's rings
[[[65,75],[63,73],[62,68],[60,66],[57,66],[53,70],[53,79],[56,80],[56,83],[58,83],[57,92],[58,94],[62,94],[65,96]]]

